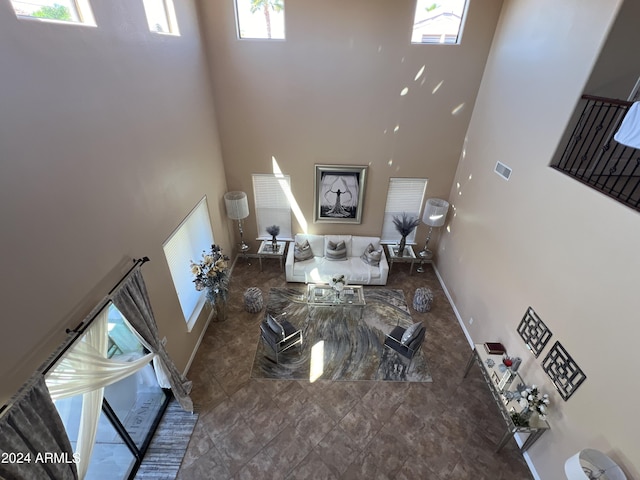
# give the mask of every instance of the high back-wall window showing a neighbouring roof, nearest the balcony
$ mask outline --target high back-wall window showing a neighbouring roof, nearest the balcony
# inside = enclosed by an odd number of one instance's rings
[[[417,0],[411,43],[460,43],[466,0]]]

